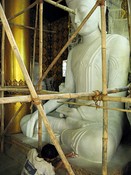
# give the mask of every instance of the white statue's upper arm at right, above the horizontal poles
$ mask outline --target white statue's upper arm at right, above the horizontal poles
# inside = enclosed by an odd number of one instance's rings
[[[111,46],[108,62],[108,88],[119,88],[127,85],[129,53],[128,40],[122,36],[116,37]],[[117,96],[119,93],[113,95]]]

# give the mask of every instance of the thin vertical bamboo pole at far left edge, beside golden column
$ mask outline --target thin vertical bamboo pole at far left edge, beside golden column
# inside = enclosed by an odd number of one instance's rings
[[[5,0],[2,0],[3,9],[5,9]],[[4,53],[5,53],[5,30],[2,27],[2,44],[1,44],[1,86],[4,87]],[[4,91],[1,92],[4,97]],[[1,105],[1,134],[4,132],[4,104]],[[1,152],[4,151],[4,137],[1,137]]]

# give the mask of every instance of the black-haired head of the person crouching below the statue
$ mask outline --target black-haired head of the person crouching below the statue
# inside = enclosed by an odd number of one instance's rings
[[[41,150],[41,157],[45,159],[46,161],[50,161],[52,159],[55,159],[58,156],[58,152],[54,145],[52,144],[46,144],[43,146]]]

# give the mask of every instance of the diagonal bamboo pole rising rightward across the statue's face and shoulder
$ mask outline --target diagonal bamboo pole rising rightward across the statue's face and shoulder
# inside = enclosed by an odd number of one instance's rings
[[[37,86],[39,86],[39,83],[47,76],[47,74],[49,73],[49,71],[52,69],[52,67],[56,64],[56,62],[59,60],[60,56],[63,54],[63,52],[67,49],[67,47],[69,46],[69,44],[72,42],[72,40],[76,37],[76,35],[78,34],[78,32],[81,30],[81,28],[83,27],[83,25],[86,23],[86,21],[89,19],[89,17],[92,15],[92,13],[95,11],[95,9],[98,7],[99,5],[99,0],[97,0],[96,4],[94,5],[94,7],[91,9],[91,11],[87,14],[87,16],[83,19],[82,23],[80,24],[80,26],[77,28],[77,30],[73,33],[73,35],[70,37],[70,39],[66,42],[66,44],[64,45],[64,47],[61,49],[61,51],[58,53],[58,55],[54,58],[54,60],[52,61],[52,63],[48,66],[48,68],[46,69],[46,71],[44,72],[44,74],[42,75],[42,77],[40,78],[40,80],[38,81]]]

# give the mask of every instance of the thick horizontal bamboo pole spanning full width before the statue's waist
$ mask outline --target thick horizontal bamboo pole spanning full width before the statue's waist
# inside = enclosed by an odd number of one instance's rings
[[[92,93],[64,93],[64,94],[44,94],[38,95],[40,100],[53,100],[53,99],[83,99],[83,100],[95,100],[96,101],[113,101],[113,102],[123,102],[123,103],[131,103],[131,98],[129,97],[113,97],[113,96],[96,96],[95,92]],[[98,97],[98,98],[97,98]],[[31,95],[21,95],[14,97],[3,97],[0,98],[0,104],[7,103],[17,103],[17,102],[31,102],[33,99]]]

